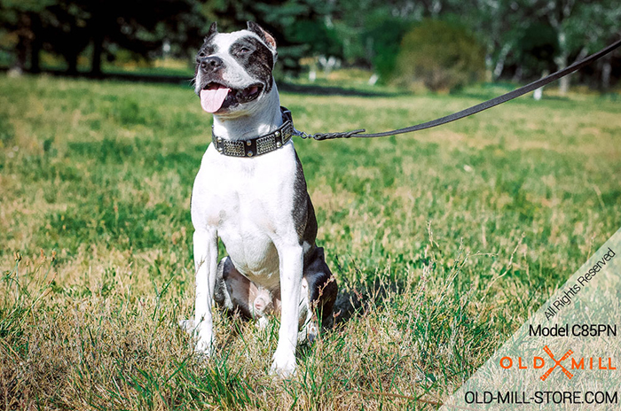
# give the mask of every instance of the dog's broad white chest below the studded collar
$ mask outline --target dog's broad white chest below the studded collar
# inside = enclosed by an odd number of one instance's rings
[[[276,244],[296,240],[295,151],[289,143],[255,159],[226,157],[209,146],[193,188],[195,229],[214,228],[243,275],[278,279]]]

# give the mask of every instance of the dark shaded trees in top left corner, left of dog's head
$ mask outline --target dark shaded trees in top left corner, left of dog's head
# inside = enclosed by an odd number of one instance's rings
[[[37,72],[40,50],[51,50],[67,61],[67,72],[77,73],[78,56],[91,45],[93,74],[100,73],[102,54],[114,58],[116,50],[148,56],[164,40],[173,52],[187,56],[188,47],[200,44],[204,24],[195,0],[42,0],[23,4],[0,2],[4,29],[19,39],[18,64]]]

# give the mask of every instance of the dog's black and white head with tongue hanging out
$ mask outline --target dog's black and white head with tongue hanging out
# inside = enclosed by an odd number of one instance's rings
[[[218,33],[213,23],[196,56],[195,91],[203,110],[242,114],[260,104],[271,92],[277,55],[274,38],[255,22],[233,33]]]

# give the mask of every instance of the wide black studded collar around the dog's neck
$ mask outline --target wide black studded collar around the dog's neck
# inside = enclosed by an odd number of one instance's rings
[[[211,141],[220,154],[231,157],[256,157],[270,151],[278,150],[291,140],[291,136],[294,135],[295,131],[291,112],[285,107],[280,107],[280,112],[282,112],[282,126],[276,128],[269,134],[244,141],[231,141],[216,136],[212,126]]]

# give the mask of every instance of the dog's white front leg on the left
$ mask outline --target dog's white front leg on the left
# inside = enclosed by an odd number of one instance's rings
[[[194,231],[194,264],[196,268],[196,304],[194,325],[198,342],[196,352],[211,355],[214,351],[211,302],[214,299],[217,269],[216,229]]]

